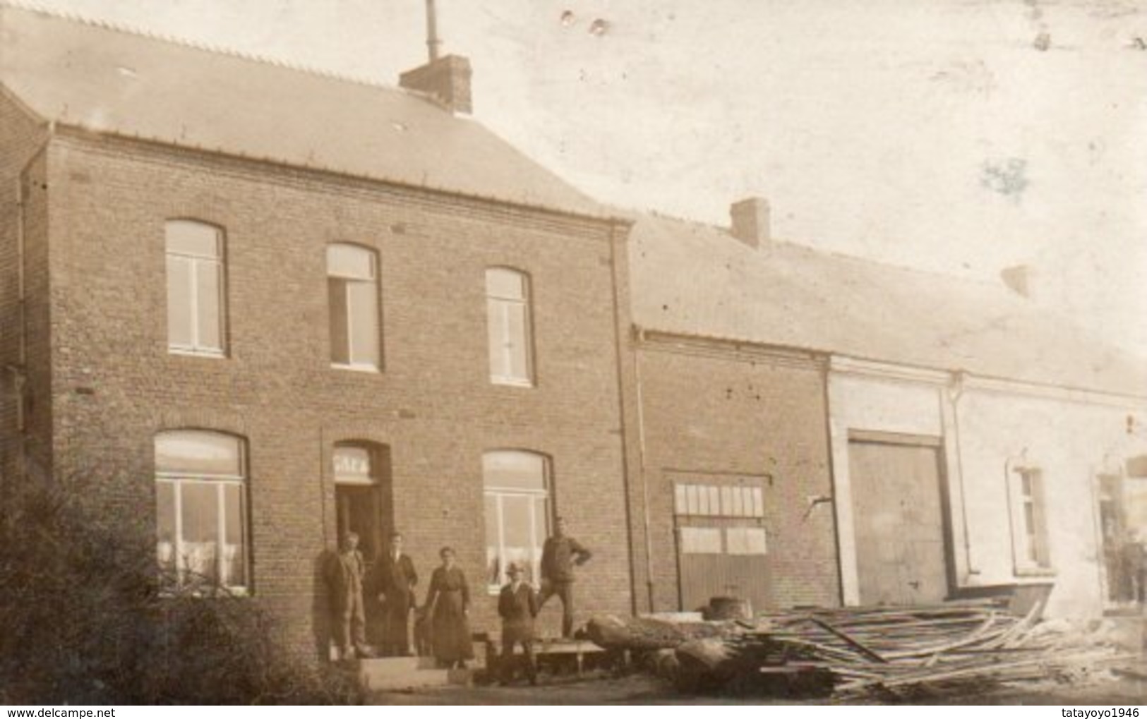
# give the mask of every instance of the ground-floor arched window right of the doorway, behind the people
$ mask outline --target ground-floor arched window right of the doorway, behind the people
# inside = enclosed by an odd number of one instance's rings
[[[486,584],[506,583],[513,562],[526,580],[541,577],[541,547],[549,534],[549,462],[533,452],[499,450],[482,455],[486,517]]]

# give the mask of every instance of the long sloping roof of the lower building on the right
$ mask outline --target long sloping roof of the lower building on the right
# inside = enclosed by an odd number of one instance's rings
[[[630,234],[646,329],[1147,397],[1142,360],[1002,284],[883,265],[663,217]]]

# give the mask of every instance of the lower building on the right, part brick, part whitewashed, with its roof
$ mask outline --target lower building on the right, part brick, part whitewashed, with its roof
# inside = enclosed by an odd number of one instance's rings
[[[1032,303],[1021,268],[960,280],[779,241],[763,200],[731,216],[630,234],[639,605],[1128,604],[1140,359]]]

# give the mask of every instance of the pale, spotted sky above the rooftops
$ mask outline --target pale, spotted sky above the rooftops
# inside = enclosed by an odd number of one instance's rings
[[[21,0],[388,85],[423,0]],[[438,0],[475,117],[595,198],[974,279],[1147,357],[1147,0]]]

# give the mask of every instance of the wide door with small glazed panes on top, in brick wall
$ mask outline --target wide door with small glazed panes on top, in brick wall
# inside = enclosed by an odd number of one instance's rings
[[[681,609],[699,609],[713,596],[768,607],[762,487],[681,483],[674,489]]]

